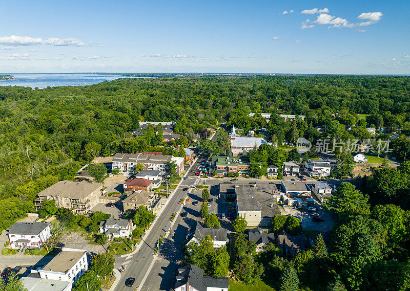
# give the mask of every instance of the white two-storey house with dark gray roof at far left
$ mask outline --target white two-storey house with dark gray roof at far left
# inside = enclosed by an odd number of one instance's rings
[[[12,249],[40,248],[51,236],[50,223],[16,222],[7,230]]]

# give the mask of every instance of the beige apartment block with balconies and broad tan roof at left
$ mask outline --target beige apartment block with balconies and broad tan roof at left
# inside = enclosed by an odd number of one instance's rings
[[[35,209],[40,209],[45,201],[54,200],[58,208],[68,208],[77,214],[89,214],[99,203],[102,189],[101,183],[60,181],[37,194]]]

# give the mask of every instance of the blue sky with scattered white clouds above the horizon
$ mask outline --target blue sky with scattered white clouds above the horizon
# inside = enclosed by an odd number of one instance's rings
[[[408,0],[0,1],[0,72],[410,74],[409,13]]]

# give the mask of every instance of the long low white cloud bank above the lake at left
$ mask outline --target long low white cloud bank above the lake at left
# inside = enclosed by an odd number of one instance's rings
[[[8,46],[38,46],[40,44],[49,44],[57,47],[66,47],[66,46],[84,46],[84,43],[81,40],[75,38],[48,38],[43,40],[42,38],[33,38],[30,36],[3,36],[0,37],[0,43],[6,44]]]

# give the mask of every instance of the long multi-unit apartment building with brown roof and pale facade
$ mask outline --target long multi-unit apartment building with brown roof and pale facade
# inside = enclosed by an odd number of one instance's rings
[[[145,170],[160,171],[164,176],[168,172],[166,164],[171,161],[176,163],[177,174],[180,175],[183,171],[184,158],[162,154],[116,153],[112,159],[112,169],[119,169],[124,175],[132,175],[135,165],[142,163]]]

